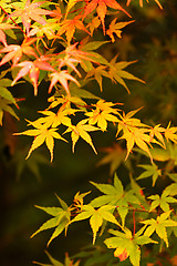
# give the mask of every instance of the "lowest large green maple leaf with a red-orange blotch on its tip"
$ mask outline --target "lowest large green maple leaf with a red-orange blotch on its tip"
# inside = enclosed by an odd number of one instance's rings
[[[135,236],[133,236],[132,232],[127,228],[124,229],[124,233],[111,229],[110,233],[115,236],[106,238],[104,243],[108,248],[116,248],[114,252],[114,256],[118,257],[121,262],[129,257],[129,260],[134,266],[139,266],[139,246],[149,243],[156,243],[152,241],[148,236],[140,235],[143,233],[143,229],[137,232]]]

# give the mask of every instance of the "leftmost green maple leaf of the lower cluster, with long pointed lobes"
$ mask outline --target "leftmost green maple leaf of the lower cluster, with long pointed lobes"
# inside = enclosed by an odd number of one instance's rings
[[[38,233],[40,233],[42,231],[55,227],[55,231],[53,232],[52,236],[50,237],[50,239],[48,242],[48,246],[55,237],[58,237],[64,231],[64,228],[66,228],[66,225],[69,224],[70,216],[71,216],[70,207],[66,205],[66,203],[64,201],[62,201],[59,196],[56,196],[56,197],[58,197],[58,200],[59,200],[59,202],[60,202],[62,207],[41,207],[41,206],[35,206],[35,207],[44,211],[45,213],[50,214],[51,216],[53,216],[52,218],[46,221],[31,236],[31,237],[33,237],[34,235],[37,235]]]

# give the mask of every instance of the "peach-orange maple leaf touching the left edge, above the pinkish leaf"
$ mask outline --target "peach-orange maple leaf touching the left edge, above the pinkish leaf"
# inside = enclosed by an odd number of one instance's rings
[[[20,61],[23,53],[27,55],[33,55],[34,58],[38,58],[33,48],[30,47],[35,40],[37,38],[31,38],[31,39],[25,38],[21,45],[10,44],[10,45],[7,45],[6,48],[2,48],[0,52],[7,53],[7,54],[1,60],[0,65],[12,60],[12,63],[13,63],[12,66],[14,66]]]

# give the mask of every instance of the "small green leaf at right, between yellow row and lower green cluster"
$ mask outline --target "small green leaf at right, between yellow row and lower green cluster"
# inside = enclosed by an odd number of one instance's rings
[[[162,175],[162,170],[159,170],[156,164],[153,164],[153,165],[142,164],[142,165],[139,165],[139,167],[143,167],[146,171],[144,171],[137,177],[137,180],[143,180],[143,178],[147,178],[147,177],[152,176],[152,178],[153,178],[153,186],[155,186],[155,183],[156,183],[158,176]]]

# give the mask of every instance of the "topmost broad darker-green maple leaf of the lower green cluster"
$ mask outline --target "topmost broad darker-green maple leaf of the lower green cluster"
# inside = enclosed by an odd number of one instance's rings
[[[122,224],[125,224],[125,217],[128,214],[128,207],[131,204],[140,204],[139,200],[135,195],[134,190],[124,192],[122,182],[118,180],[117,175],[114,176],[114,186],[110,184],[97,184],[91,182],[97,190],[100,190],[105,195],[94,198],[91,204],[94,207],[102,206],[103,204],[111,204],[117,208],[117,212],[122,218]]]

